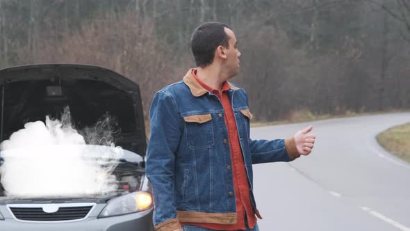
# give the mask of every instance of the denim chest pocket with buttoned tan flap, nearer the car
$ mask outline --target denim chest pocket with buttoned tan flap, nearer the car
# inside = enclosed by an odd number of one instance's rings
[[[192,115],[183,118],[188,148],[191,150],[211,148],[214,143],[211,114]]]

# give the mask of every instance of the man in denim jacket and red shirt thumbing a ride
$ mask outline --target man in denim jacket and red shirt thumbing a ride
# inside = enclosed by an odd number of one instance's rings
[[[197,68],[158,91],[151,104],[147,177],[154,225],[160,231],[259,230],[252,164],[311,153],[312,127],[286,140],[252,141],[245,90],[227,81],[240,69],[235,34],[225,24],[204,23],[191,43]]]

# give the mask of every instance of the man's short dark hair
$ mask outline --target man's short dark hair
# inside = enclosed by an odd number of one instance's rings
[[[229,48],[229,38],[224,31],[225,27],[229,28],[220,22],[205,22],[192,33],[191,49],[198,67],[206,67],[213,62],[215,49],[218,46]]]

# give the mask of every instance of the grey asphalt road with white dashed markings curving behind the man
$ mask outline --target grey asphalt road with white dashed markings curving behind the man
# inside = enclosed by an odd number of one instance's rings
[[[410,113],[253,128],[254,139],[290,137],[308,125],[316,135],[308,157],[254,165],[261,230],[410,231],[410,164],[375,140],[406,122]]]

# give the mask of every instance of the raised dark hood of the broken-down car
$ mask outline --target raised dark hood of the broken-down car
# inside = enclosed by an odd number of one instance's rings
[[[108,113],[121,129],[115,145],[145,155],[147,148],[138,84],[121,74],[91,65],[26,65],[0,70],[0,142],[26,122],[50,115],[59,118],[65,106],[76,128],[92,126]]]

